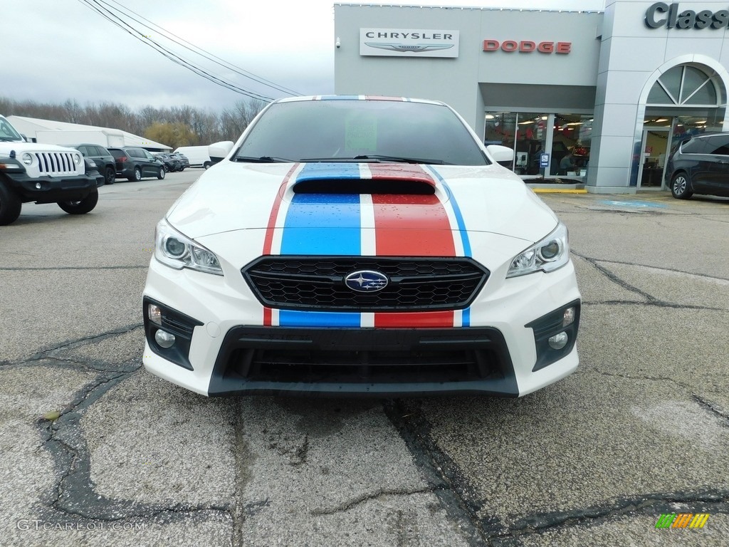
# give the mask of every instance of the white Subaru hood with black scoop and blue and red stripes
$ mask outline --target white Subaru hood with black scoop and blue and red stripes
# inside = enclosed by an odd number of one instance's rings
[[[378,229],[404,236],[425,227],[529,242],[558,222],[518,176],[498,165],[229,161],[200,176],[167,219],[190,238],[256,229],[327,237],[321,230],[374,229],[373,216],[381,219]]]

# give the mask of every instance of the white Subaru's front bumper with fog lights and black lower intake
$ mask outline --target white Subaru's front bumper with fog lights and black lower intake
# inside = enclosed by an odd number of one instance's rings
[[[178,337],[177,354],[155,342],[159,327],[149,321],[147,303],[168,311],[163,330]],[[545,335],[569,306],[577,310],[569,344],[545,359],[551,351]],[[178,271],[152,258],[144,290],[144,366],[209,396],[376,397],[517,397],[577,368],[580,293],[572,263],[494,287],[487,282],[468,312],[469,326],[453,328],[263,326],[262,306],[242,276]]]

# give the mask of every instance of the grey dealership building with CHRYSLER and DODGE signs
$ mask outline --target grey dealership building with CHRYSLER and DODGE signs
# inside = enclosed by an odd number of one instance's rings
[[[655,190],[674,144],[729,131],[728,24],[729,2],[701,0],[335,4],[335,91],[444,101],[531,185]]]

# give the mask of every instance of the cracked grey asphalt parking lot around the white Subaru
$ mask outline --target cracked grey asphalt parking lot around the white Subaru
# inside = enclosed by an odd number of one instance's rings
[[[729,542],[729,200],[540,194],[583,307],[532,395],[208,399],[141,368],[155,224],[201,173],[0,228],[2,545]]]

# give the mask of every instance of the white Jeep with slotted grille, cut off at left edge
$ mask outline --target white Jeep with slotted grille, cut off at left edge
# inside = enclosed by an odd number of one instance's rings
[[[23,203],[58,203],[85,214],[98,203],[98,172],[88,172],[81,152],[56,144],[26,142],[0,115],[0,225],[20,217]]]

